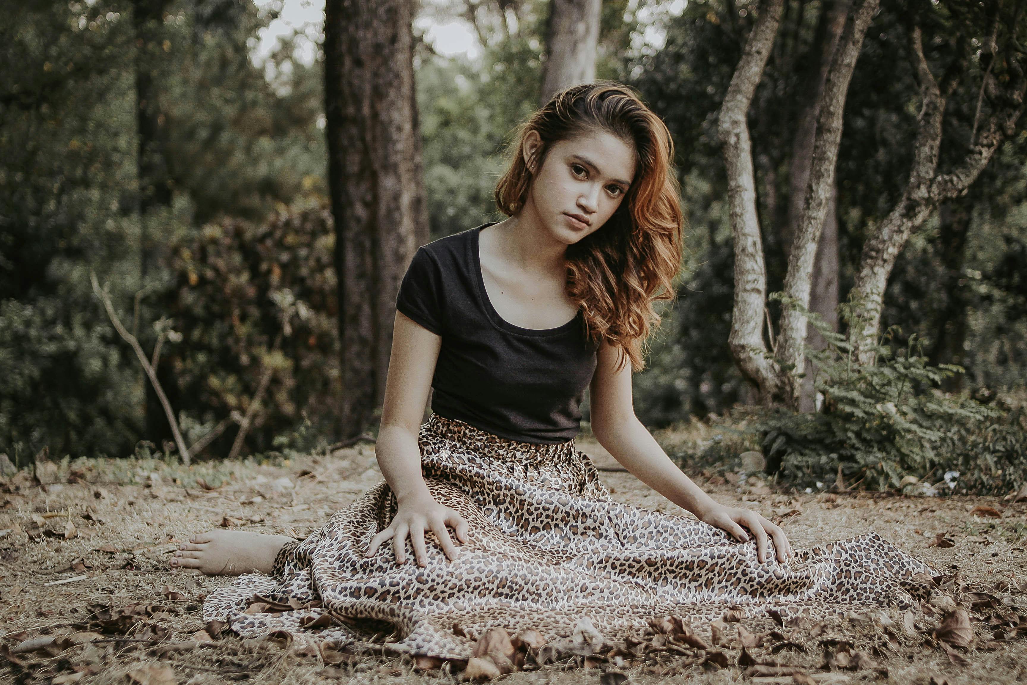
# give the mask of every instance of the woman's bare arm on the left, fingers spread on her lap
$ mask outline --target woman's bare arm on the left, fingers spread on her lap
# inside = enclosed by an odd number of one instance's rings
[[[446,556],[456,559],[447,525],[453,527],[461,542],[466,541],[466,521],[436,502],[421,475],[417,437],[441,347],[441,337],[405,314],[395,313],[375,454],[382,475],[395,494],[397,511],[389,526],[372,538],[367,550],[369,557],[379,544],[391,538],[395,561],[403,564],[409,536],[418,566],[424,566],[427,563],[424,532],[429,531],[438,536]]]

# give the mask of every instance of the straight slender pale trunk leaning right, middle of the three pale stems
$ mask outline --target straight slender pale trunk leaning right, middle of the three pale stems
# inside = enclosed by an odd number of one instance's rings
[[[817,243],[834,193],[845,98],[860,58],[863,38],[878,4],[879,0],[857,0],[852,12],[845,21],[821,93],[809,180],[803,193],[802,220],[788,256],[788,275],[785,278],[785,299],[777,342],[777,356],[782,366],[788,370],[783,376],[783,394],[786,403],[793,409],[799,407],[802,386],[800,376],[805,371],[808,328],[806,311],[809,307]]]

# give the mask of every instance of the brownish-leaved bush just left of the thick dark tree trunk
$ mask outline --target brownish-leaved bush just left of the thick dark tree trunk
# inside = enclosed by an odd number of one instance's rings
[[[303,443],[311,425],[332,434],[340,375],[329,211],[305,204],[259,224],[226,219],[169,249],[175,286],[159,307],[182,339],[165,343],[161,364],[170,370],[172,404],[196,436],[233,412],[244,414],[268,369],[250,450]],[[289,431],[297,434],[275,442]],[[212,452],[227,453],[234,434],[226,431]]]

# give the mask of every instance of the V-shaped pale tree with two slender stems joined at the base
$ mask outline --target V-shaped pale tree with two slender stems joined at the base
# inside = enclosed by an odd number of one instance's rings
[[[805,366],[806,311],[813,263],[834,191],[845,96],[878,0],[855,2],[847,12],[841,37],[831,55],[816,106],[812,156],[802,194],[801,219],[789,249],[779,335],[774,340],[766,307],[766,267],[756,212],[756,182],[747,116],[777,34],[783,5],[783,0],[765,0],[760,5],[758,18],[721,106],[719,136],[724,144],[734,235],[734,306],[728,344],[738,368],[757,386],[764,404],[781,403],[797,408]],[[769,350],[763,337],[764,321],[771,338]]]

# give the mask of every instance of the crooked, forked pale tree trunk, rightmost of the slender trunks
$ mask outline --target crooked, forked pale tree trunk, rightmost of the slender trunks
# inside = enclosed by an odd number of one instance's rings
[[[1014,26],[1018,24],[1015,22]],[[913,144],[913,165],[902,197],[864,243],[860,268],[849,295],[853,306],[849,326],[860,364],[873,364],[876,358],[884,289],[896,258],[909,236],[941,201],[961,194],[974,183],[998,145],[1015,132],[1016,122],[1024,110],[1027,78],[1022,69],[1011,70],[1011,77],[1002,88],[990,72],[986,73],[984,88],[992,103],[991,114],[977,139],[971,143],[965,156],[951,172],[937,174],[945,101],[955,88],[961,69],[948,70],[943,84],[938,84],[923,56],[919,26],[910,32],[910,53],[922,99]],[[1014,59],[1011,55],[1011,61]]]

